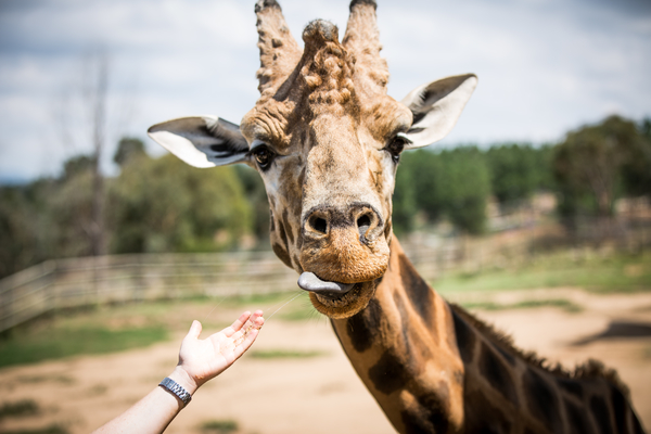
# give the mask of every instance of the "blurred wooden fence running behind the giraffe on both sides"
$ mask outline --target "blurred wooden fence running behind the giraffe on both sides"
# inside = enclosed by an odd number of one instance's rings
[[[531,221],[531,220],[529,220]],[[624,225],[627,250],[651,245],[651,218]],[[549,240],[566,243],[556,224],[526,224],[490,237],[412,233],[401,240],[426,280],[535,259]],[[296,289],[297,275],[271,252],[139,254],[48,260],[0,280],[0,331],[53,309],[193,295],[264,294]]]

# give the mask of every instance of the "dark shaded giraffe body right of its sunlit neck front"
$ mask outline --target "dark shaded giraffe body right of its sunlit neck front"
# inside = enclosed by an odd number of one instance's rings
[[[595,360],[574,373],[549,369],[460,307],[452,306],[452,317],[467,432],[642,432],[615,371]]]

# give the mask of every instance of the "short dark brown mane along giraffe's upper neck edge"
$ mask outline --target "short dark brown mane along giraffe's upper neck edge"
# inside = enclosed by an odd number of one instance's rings
[[[487,337],[493,344],[508,354],[515,356],[527,365],[547,371],[553,375],[571,379],[571,380],[596,380],[603,379],[613,386],[617,387],[627,399],[630,399],[630,391],[622,381],[615,369],[608,368],[601,361],[588,359],[582,365],[577,365],[574,370],[569,370],[560,362],[549,362],[545,357],[539,357],[536,352],[525,352],[515,346],[513,337],[500,330],[497,330],[493,324],[482,321],[463,307],[448,303],[451,309],[458,314],[471,327],[475,328],[482,335]]]

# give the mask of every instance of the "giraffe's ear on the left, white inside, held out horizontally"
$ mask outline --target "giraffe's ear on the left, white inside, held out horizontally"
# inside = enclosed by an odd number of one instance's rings
[[[149,137],[194,167],[215,167],[246,158],[248,143],[240,126],[216,116],[195,116],[156,124]]]

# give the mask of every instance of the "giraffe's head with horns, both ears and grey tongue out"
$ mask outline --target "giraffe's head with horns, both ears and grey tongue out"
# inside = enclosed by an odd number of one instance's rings
[[[346,318],[367,306],[388,265],[400,153],[445,137],[476,77],[433,81],[398,102],[386,94],[374,0],[353,0],[341,42],[333,24],[309,23],[303,50],[275,0],[259,0],[255,12],[260,98],[241,125],[186,117],[149,135],[196,167],[255,168],[273,252],[302,273],[317,310]]]

